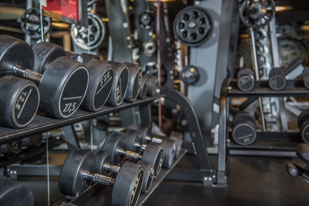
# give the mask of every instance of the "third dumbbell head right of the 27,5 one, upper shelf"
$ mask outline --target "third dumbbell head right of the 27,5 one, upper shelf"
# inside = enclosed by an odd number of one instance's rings
[[[124,96],[124,101],[132,103],[137,99],[137,96],[141,89],[143,72],[139,65],[131,64],[128,62],[124,63],[129,70],[128,77],[128,88]]]

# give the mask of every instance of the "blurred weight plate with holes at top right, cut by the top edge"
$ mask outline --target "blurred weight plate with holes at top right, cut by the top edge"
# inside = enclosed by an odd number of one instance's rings
[[[240,19],[247,27],[264,27],[275,15],[274,8],[273,0],[243,0],[239,9]]]

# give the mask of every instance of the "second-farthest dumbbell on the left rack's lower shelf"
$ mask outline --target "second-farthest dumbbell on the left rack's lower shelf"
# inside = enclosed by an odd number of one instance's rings
[[[145,143],[141,143],[143,142],[143,139],[139,131],[128,129],[125,131],[124,136],[126,137],[127,140],[126,149],[135,152],[138,152],[138,149],[142,150],[147,149],[148,145]],[[170,168],[172,167],[173,160],[175,157],[176,142],[171,139],[162,139],[160,145],[164,149],[164,158],[162,167]]]

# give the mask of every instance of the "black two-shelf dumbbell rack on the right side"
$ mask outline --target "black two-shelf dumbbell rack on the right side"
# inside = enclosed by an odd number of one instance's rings
[[[258,97],[309,97],[309,90],[302,80],[287,80],[286,87],[280,91],[271,90],[268,81],[255,81],[251,91],[238,89],[237,82],[224,79],[220,94],[218,170],[225,171],[225,162],[229,154],[290,156],[301,142],[298,132],[257,132],[257,138],[251,145],[238,145],[230,136],[229,109],[232,98]]]

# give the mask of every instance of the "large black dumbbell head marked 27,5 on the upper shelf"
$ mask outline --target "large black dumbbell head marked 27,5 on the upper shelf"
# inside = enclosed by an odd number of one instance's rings
[[[84,64],[58,57],[45,70],[39,83],[39,109],[57,119],[72,116],[88,88],[89,73]]]

